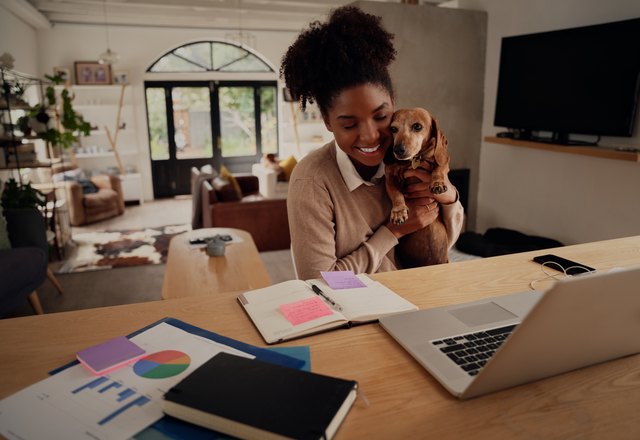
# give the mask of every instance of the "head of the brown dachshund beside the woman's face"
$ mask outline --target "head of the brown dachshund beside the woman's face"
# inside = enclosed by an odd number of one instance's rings
[[[398,160],[433,157],[438,146],[446,148],[438,123],[423,108],[396,110],[391,120],[393,155]]]

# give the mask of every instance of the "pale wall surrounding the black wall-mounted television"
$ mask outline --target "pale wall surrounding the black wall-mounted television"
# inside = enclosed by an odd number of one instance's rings
[[[459,3],[463,8],[487,11],[489,16],[483,137],[503,130],[493,126],[503,36],[640,17],[637,0],[460,0]],[[632,138],[603,137],[600,145],[640,147],[640,120],[636,121]],[[639,189],[640,163],[483,142],[476,231],[506,227],[555,238],[565,244],[637,235]]]

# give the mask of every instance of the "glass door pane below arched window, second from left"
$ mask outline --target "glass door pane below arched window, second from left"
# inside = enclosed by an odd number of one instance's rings
[[[178,159],[213,155],[211,106],[208,87],[175,87],[173,100],[174,140]]]

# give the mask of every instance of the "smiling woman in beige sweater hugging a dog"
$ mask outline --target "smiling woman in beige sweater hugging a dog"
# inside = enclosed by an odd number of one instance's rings
[[[393,139],[394,111],[388,72],[395,59],[393,35],[380,18],[355,7],[314,22],[283,57],[281,75],[304,109],[316,102],[335,140],[308,154],[294,168],[287,209],[298,278],[320,271],[374,273],[400,268],[394,247],[402,236],[436,220],[452,245],[463,210],[451,182],[445,193],[429,191],[430,175],[410,170],[421,182],[407,188],[409,220],[389,222],[391,203],[382,159]]]

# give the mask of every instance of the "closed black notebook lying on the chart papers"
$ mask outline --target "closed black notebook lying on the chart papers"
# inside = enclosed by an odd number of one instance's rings
[[[178,419],[246,439],[330,439],[357,383],[220,353],[164,396]]]

